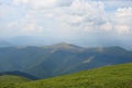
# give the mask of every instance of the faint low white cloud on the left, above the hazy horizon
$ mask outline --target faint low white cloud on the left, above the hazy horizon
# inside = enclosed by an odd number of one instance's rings
[[[4,25],[4,32],[9,32],[10,35],[38,35],[43,32],[43,26],[38,25],[35,21],[30,20],[29,16],[21,19],[20,21],[12,21]]]

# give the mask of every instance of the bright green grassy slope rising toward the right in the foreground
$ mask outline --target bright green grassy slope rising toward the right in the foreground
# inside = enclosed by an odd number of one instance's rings
[[[19,84],[15,88],[132,88],[132,64]]]

